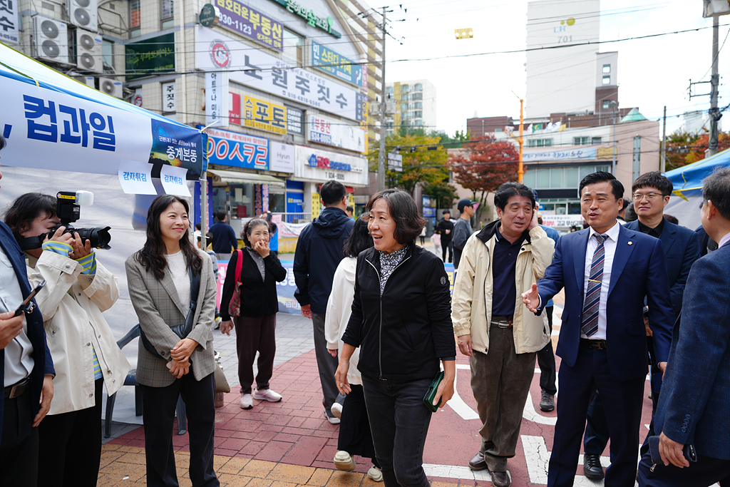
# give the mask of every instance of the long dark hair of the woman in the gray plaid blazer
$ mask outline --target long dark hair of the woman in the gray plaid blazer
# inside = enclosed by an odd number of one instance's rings
[[[190,211],[188,202],[172,194],[161,194],[155,198],[150,204],[150,210],[147,211],[147,242],[134,257],[147,271],[152,271],[157,280],[162,280],[167,266],[165,259],[166,248],[160,231],[160,215],[174,202],[183,204],[185,212]],[[188,230],[190,230],[189,226]],[[203,267],[203,261],[190,241],[188,230],[185,230],[185,234],[180,239],[180,250],[183,250],[185,262],[193,268],[193,273],[198,274]]]

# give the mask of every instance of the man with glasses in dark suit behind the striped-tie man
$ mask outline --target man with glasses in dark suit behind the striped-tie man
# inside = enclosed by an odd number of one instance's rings
[[[699,237],[690,229],[675,225],[664,220],[664,207],[669,203],[672,194],[672,181],[661,175],[661,172],[647,172],[631,185],[631,194],[634,210],[639,219],[626,223],[627,230],[640,231],[661,240],[666,258],[666,275],[669,277],[669,299],[672,300],[672,309],[675,318],[682,309],[689,269],[699,258]],[[645,318],[646,323],[646,318]],[[654,353],[653,337],[647,325],[647,347],[651,365],[652,410],[656,411],[661,388],[661,370],[657,366]],[[650,425],[649,435],[654,434]],[[603,469],[599,457],[608,442],[608,424],[604,413],[603,402],[600,396],[593,399],[588,407],[588,421],[585,424],[583,450],[585,452],[583,472],[588,478],[603,478]]]

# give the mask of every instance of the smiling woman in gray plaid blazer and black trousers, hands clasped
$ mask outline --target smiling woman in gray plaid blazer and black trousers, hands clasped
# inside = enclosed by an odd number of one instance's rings
[[[126,261],[129,296],[147,342],[139,340],[137,382],[142,386],[147,486],[177,486],[172,449],[175,404],[183,396],[190,432],[193,487],[218,487],[213,470],[215,280],[212,262],[193,247],[188,202],[155,198],[147,212],[147,242]],[[191,275],[200,276],[193,330],[182,340],[171,326],[191,309]]]

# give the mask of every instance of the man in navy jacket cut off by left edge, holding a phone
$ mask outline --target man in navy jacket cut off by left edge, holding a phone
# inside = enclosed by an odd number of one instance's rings
[[[0,135],[0,149],[5,139]],[[2,174],[0,173],[0,178]],[[46,345],[43,316],[13,317],[31,293],[26,258],[5,223],[0,222],[0,486],[36,486],[38,429],[53,398],[53,361]]]

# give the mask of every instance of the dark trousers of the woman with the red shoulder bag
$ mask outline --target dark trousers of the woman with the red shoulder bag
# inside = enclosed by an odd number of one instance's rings
[[[268,389],[276,355],[276,315],[255,318],[239,316],[234,318],[234,323],[236,323],[238,380],[241,383],[241,394],[251,394],[253,360],[257,351],[256,388]]]

